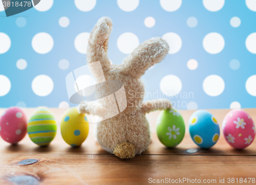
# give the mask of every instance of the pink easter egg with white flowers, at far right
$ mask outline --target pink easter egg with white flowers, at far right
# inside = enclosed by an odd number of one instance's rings
[[[249,146],[255,138],[255,125],[244,110],[234,109],[227,113],[222,129],[227,143],[237,149]]]

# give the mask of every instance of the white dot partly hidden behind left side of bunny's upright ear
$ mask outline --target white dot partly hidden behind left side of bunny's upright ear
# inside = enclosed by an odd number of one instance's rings
[[[87,32],[80,33],[75,38],[75,48],[81,54],[87,54],[87,45],[90,34]]]

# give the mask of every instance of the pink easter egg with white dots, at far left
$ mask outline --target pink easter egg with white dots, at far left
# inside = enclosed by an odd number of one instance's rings
[[[27,117],[17,108],[7,109],[0,119],[0,135],[8,143],[15,144],[22,140],[27,133]]]

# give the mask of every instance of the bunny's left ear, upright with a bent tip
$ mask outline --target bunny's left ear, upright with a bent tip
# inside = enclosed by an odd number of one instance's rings
[[[108,58],[109,37],[112,31],[112,21],[108,17],[101,17],[95,25],[87,47],[87,63],[100,61],[103,72],[108,72],[111,62]]]

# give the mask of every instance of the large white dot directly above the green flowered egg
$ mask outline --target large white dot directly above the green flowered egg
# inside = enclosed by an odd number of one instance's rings
[[[166,96],[175,96],[182,88],[181,80],[175,75],[166,75],[160,82],[160,89]]]

